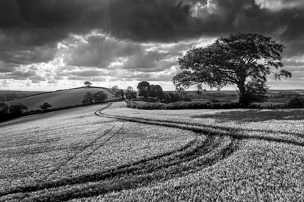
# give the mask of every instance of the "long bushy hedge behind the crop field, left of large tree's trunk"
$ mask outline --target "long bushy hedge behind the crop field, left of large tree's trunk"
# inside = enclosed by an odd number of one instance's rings
[[[132,109],[240,109],[243,108],[239,103],[236,102],[225,102],[225,103],[206,103],[202,101],[190,101],[190,102],[175,102],[167,105],[162,105],[159,103],[130,103],[126,101],[127,106]],[[251,105],[250,108],[256,108],[257,106]]]

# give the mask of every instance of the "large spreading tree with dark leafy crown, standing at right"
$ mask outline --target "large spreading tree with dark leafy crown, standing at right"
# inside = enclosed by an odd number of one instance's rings
[[[283,48],[282,44],[261,34],[230,34],[228,38],[221,37],[205,48],[190,49],[179,58],[181,72],[172,78],[172,82],[180,92],[197,85],[198,94],[206,91],[202,88],[203,83],[217,90],[237,85],[241,105],[262,102],[268,90],[265,84],[267,75],[272,73],[275,80],[280,80],[280,76],[292,76],[285,69],[278,72],[271,70],[271,67],[283,67],[280,55]]]

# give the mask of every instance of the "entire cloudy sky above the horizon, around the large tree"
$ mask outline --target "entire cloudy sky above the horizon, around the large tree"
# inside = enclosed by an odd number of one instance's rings
[[[285,46],[293,76],[269,76],[270,89],[304,89],[303,0],[1,0],[0,89],[174,90],[179,57],[238,32]]]

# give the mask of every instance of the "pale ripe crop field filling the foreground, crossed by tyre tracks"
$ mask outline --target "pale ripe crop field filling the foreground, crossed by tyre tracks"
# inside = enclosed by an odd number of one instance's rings
[[[304,109],[125,106],[0,123],[0,201],[303,200]]]

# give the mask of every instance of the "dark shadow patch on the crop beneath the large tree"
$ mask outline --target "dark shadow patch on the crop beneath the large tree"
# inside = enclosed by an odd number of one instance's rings
[[[227,122],[233,120],[237,122],[257,122],[268,120],[303,120],[303,109],[272,109],[272,110],[259,110],[251,109],[247,111],[229,111],[219,112],[216,114],[204,114],[190,116],[191,118],[203,119],[217,119],[217,122]]]

